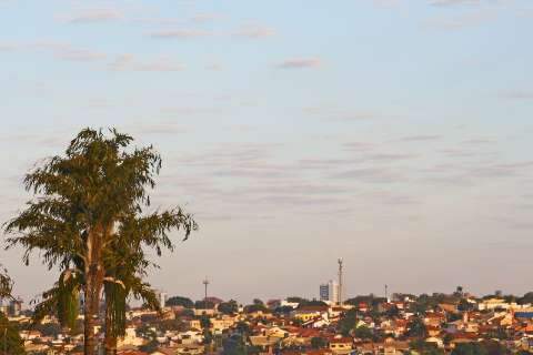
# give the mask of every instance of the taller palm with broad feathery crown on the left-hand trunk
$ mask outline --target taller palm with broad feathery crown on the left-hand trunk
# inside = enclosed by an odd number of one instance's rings
[[[102,130],[81,131],[64,155],[51,158],[26,175],[26,189],[38,199],[6,224],[12,235],[8,247],[21,245],[26,264],[40,250],[49,268],[82,278],[86,355],[94,354],[104,284],[120,284],[108,273],[110,261],[117,257],[112,245],[148,246],[160,254],[161,248],[174,246],[168,235],[171,230],[183,230],[187,239],[198,229],[179,207],[143,214],[161,158],[152,146],[131,149],[132,141],[114,129],[109,138]]]

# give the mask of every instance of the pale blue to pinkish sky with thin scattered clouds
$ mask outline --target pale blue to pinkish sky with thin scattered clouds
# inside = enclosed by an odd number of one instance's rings
[[[0,221],[83,128],[153,144],[200,225],[170,295],[522,294],[533,248],[530,0],[0,0]],[[0,251],[27,301],[54,280]]]

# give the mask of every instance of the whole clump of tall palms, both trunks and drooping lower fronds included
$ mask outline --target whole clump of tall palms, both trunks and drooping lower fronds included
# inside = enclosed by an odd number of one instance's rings
[[[84,353],[93,354],[100,295],[105,300],[105,351],[117,352],[117,336],[125,328],[127,297],[159,303],[143,282],[157,255],[172,251],[172,230],[185,239],[198,225],[180,207],[145,213],[149,189],[155,186],[161,158],[152,146],[133,148],[133,138],[110,130],[81,131],[66,150],[28,173],[24,185],[36,199],[6,224],[8,246],[22,246],[23,262],[39,251],[60,277],[43,293],[37,317],[56,313],[63,326],[76,320],[78,296],[84,296]]]

